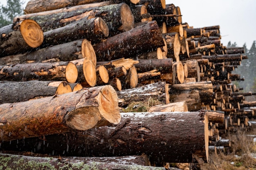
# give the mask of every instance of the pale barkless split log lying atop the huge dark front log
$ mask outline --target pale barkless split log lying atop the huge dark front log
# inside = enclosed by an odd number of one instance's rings
[[[187,112],[188,106],[185,101],[152,106],[148,112]]]

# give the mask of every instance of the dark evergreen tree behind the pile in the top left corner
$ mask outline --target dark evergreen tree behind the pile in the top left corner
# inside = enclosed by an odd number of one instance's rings
[[[7,0],[6,6],[0,6],[0,27],[11,24],[14,17],[23,14],[22,4],[20,0]]]

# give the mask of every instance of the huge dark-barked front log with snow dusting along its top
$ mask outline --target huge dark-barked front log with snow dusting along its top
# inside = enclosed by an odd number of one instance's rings
[[[160,133],[159,133],[160,132]],[[148,155],[150,162],[197,162],[208,159],[208,119],[200,112],[121,113],[117,126],[93,128],[4,143],[9,150],[36,150],[37,153],[66,156]],[[38,142],[40,147],[36,147]],[[28,144],[29,143],[29,144]],[[73,145],[74,144],[74,145]],[[18,145],[18,146],[17,146]],[[67,150],[68,148],[68,150]],[[76,149],[75,149],[76,148]]]

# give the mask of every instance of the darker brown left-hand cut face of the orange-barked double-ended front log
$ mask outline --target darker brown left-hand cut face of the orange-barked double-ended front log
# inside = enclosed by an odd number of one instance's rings
[[[65,116],[68,127],[76,130],[88,130],[97,125],[101,114],[95,106],[85,106],[72,110]]]

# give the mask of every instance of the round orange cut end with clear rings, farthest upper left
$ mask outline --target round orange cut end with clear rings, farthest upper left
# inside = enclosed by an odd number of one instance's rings
[[[25,42],[32,48],[36,48],[43,43],[43,30],[34,20],[24,20],[20,24],[20,33]]]

